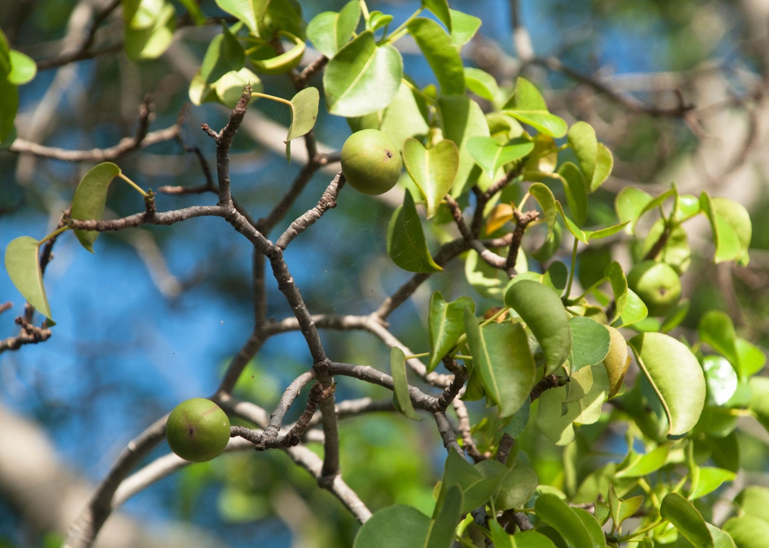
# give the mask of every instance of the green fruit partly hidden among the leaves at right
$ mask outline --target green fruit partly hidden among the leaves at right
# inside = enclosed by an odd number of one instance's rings
[[[664,316],[681,298],[681,278],[669,264],[643,261],[628,273],[628,287],[641,297],[650,316]]]

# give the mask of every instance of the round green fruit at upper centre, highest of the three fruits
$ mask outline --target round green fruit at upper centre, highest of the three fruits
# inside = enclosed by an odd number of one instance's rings
[[[341,171],[356,191],[384,194],[401,178],[401,153],[378,129],[362,129],[342,146]]]

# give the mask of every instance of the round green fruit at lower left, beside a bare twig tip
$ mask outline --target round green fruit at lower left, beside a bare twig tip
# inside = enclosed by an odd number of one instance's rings
[[[194,397],[174,407],[165,423],[168,447],[179,457],[202,463],[221,455],[230,439],[230,420],[211,400]]]

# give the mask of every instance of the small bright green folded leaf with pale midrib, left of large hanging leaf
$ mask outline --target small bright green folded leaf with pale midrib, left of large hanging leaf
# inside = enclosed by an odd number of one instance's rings
[[[475,303],[470,297],[459,297],[447,303],[440,291],[435,291],[430,299],[428,330],[430,332],[430,358],[428,372],[434,370],[457,339],[464,333],[464,309],[475,311]]]

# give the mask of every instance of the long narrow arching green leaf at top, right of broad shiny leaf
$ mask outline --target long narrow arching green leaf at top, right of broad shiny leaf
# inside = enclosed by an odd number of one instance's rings
[[[432,19],[418,17],[408,24],[424,58],[433,69],[442,95],[464,93],[464,65],[451,37]]]

